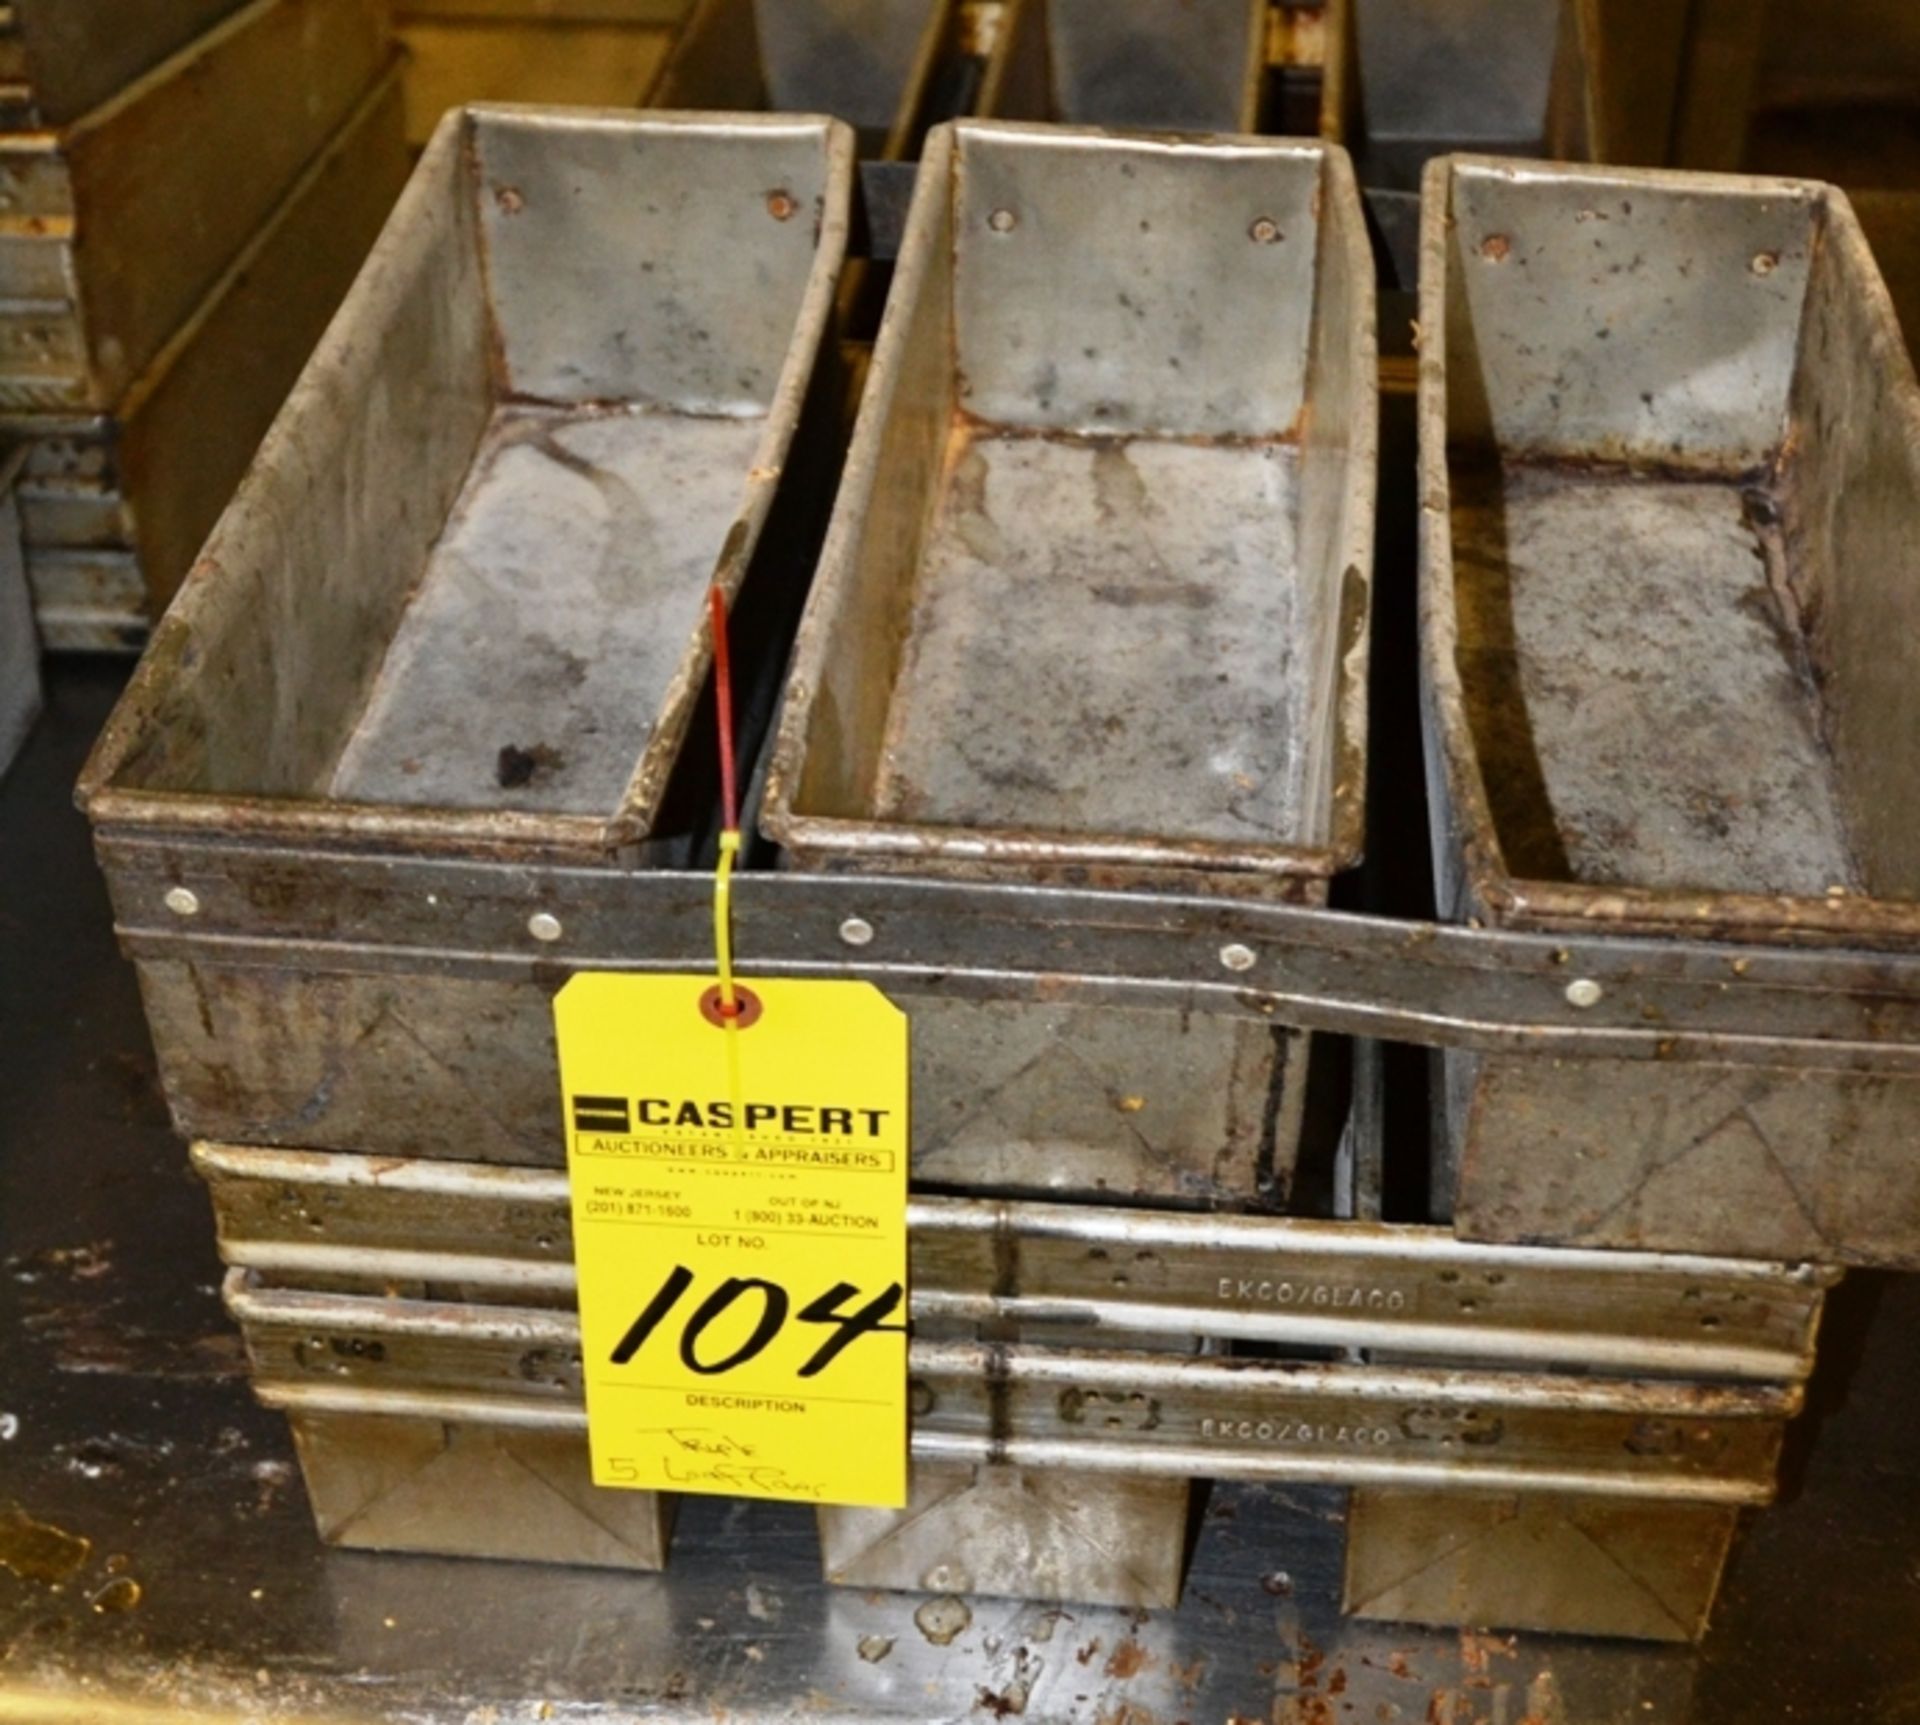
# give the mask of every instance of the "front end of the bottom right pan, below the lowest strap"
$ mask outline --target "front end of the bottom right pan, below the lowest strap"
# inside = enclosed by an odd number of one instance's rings
[[[1740,1510],[1356,1491],[1346,1610],[1388,1623],[1699,1640]]]

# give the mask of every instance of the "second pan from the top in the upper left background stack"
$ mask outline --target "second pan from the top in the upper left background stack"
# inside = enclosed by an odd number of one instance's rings
[[[0,407],[113,407],[390,56],[380,0],[253,0],[71,125],[0,134]]]

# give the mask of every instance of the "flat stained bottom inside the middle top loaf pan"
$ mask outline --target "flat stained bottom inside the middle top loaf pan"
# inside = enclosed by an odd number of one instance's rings
[[[1271,841],[1302,830],[1298,451],[962,426],[877,813]]]

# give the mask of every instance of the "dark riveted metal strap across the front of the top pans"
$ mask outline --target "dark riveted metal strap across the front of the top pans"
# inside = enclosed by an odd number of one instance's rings
[[[712,962],[712,884],[697,870],[102,828],[121,943],[142,960],[549,987],[576,970]],[[541,912],[555,939],[530,932]],[[1549,1058],[1920,1072],[1920,953],[1542,935],[1225,895],[870,874],[737,876],[733,920],[749,976],[858,976],[908,997],[1165,1005]]]

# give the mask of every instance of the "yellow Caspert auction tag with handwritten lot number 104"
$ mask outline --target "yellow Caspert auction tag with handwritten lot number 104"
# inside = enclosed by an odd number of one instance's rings
[[[864,982],[737,1003],[555,999],[593,1481],[899,1508],[906,1014]]]

